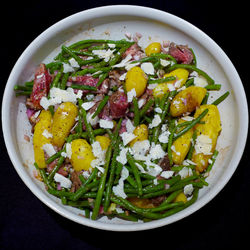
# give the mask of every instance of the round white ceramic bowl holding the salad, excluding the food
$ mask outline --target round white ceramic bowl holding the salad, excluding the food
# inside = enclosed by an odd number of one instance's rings
[[[220,152],[216,164],[207,179],[209,186],[200,191],[195,204],[168,218],[148,223],[131,223],[119,219],[86,219],[82,211],[61,205],[49,195],[44,185],[33,177],[32,143],[24,140],[30,135],[30,125],[25,115],[24,98],[15,97],[13,86],[29,80],[40,62],[49,62],[60,50],[60,46],[87,38],[125,38],[125,32],[140,32],[139,44],[151,41],[170,40],[177,44],[188,44],[194,49],[198,67],[222,84],[215,92],[216,98],[225,91],[230,96],[219,105],[222,132],[217,148]],[[211,100],[211,99],[210,99]],[[222,112],[223,110],[223,112]],[[169,13],[139,6],[106,6],[86,10],[51,26],[38,36],[23,52],[8,79],[3,103],[2,125],[10,159],[29,189],[47,206],[62,216],[77,223],[94,228],[113,231],[136,231],[164,226],[180,220],[209,202],[224,187],[234,173],[242,156],[248,130],[248,109],[241,80],[226,54],[201,30]]]

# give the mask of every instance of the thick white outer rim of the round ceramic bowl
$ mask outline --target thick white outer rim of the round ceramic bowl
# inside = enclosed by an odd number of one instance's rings
[[[220,63],[221,67],[223,68],[223,71],[228,76],[230,75],[230,78],[232,79],[231,82],[235,82],[237,84],[237,96],[236,96],[236,102],[239,107],[241,107],[242,112],[240,112],[239,117],[239,134],[241,136],[238,137],[236,146],[238,147],[237,152],[234,153],[234,156],[232,157],[232,161],[230,162],[230,166],[232,166],[231,171],[227,173],[223,180],[216,185],[216,188],[212,188],[204,197],[201,197],[199,200],[197,200],[193,205],[186,208],[185,210],[182,210],[181,212],[172,215],[170,217],[167,217],[165,219],[157,220],[157,221],[151,221],[147,223],[138,223],[138,224],[111,224],[111,223],[104,223],[100,221],[92,221],[90,219],[86,219],[84,217],[79,218],[78,215],[73,214],[72,212],[68,211],[52,199],[50,199],[30,178],[26,170],[23,168],[23,165],[18,161],[18,154],[15,151],[15,148],[13,146],[12,137],[11,137],[11,131],[10,131],[10,116],[8,114],[9,108],[10,108],[10,97],[13,94],[13,89],[10,88],[11,82],[13,82],[14,75],[16,72],[21,72],[21,64],[22,60],[26,60],[32,53],[36,51],[36,48],[39,47],[39,45],[43,44],[46,40],[50,39],[51,36],[53,36],[54,32],[61,32],[68,26],[73,26],[74,24],[79,23],[82,20],[88,20],[93,19],[93,17],[106,17],[107,15],[129,15],[134,17],[150,17],[152,20],[160,21],[163,23],[170,24],[172,27],[177,28],[178,30],[182,31],[183,33],[187,33],[186,29],[188,28],[190,36],[195,39],[197,42],[202,44],[210,53],[211,51],[214,51],[214,54],[216,54],[216,60],[218,62],[223,62],[227,67],[223,67]],[[13,84],[12,84],[13,85]],[[234,85],[232,85],[232,88],[234,89]],[[235,87],[236,90],[236,87]],[[147,229],[153,229],[161,226],[165,226],[168,224],[171,224],[175,221],[178,221],[182,218],[187,217],[188,215],[191,215],[195,211],[202,208],[205,204],[207,204],[209,201],[211,201],[227,184],[229,179],[232,177],[233,173],[235,172],[240,159],[242,157],[242,154],[244,152],[246,139],[247,139],[247,132],[248,132],[248,106],[247,106],[247,100],[246,95],[244,92],[244,88],[241,82],[241,79],[233,66],[232,62],[228,58],[228,56],[225,54],[225,52],[203,31],[201,31],[199,28],[195,27],[191,23],[185,21],[184,19],[177,17],[176,15],[170,14],[168,12],[149,8],[149,7],[143,7],[138,5],[108,5],[103,7],[97,7],[92,8],[88,10],[84,10],[78,13],[75,13],[73,15],[70,15],[61,21],[53,24],[48,29],[46,29],[44,32],[42,32],[37,38],[35,38],[30,45],[24,50],[22,55],[17,60],[16,64],[14,65],[10,76],[8,78],[7,84],[5,86],[5,91],[2,99],[2,130],[4,135],[4,141],[6,144],[7,152],[9,154],[9,157],[11,159],[11,162],[13,166],[15,167],[18,175],[21,177],[23,182],[26,184],[26,186],[31,190],[31,192],[40,199],[44,204],[46,204],[48,207],[50,207],[52,210],[57,212],[58,214],[74,221],[79,224],[102,229],[102,230],[109,230],[109,231],[141,231],[141,230],[147,230]]]

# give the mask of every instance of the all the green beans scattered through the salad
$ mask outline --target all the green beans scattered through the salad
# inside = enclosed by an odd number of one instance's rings
[[[115,45],[114,48],[112,45]],[[83,90],[90,94],[97,94],[98,88],[102,85],[105,79],[109,78],[110,72],[113,70],[113,66],[120,63],[125,57],[124,53],[130,48],[135,42],[126,40],[108,40],[108,39],[88,39],[78,41],[71,44],[70,46],[62,45],[60,53],[54,58],[54,60],[46,64],[46,68],[52,76],[52,81],[50,83],[50,88],[60,88],[65,90],[67,84],[73,81],[73,77],[81,77],[86,75],[91,75],[93,78],[98,78],[96,86],[82,85],[80,83],[70,83],[70,87],[74,90]],[[114,56],[108,61],[103,58],[98,57],[95,54],[95,50],[114,50]],[[147,84],[162,84],[173,82],[177,79],[175,76],[170,77],[159,77],[159,72],[163,71],[169,73],[175,69],[187,69],[189,72],[197,72],[198,75],[204,77],[208,83],[205,87],[207,90],[206,96],[202,100],[201,105],[207,104],[209,102],[209,92],[208,91],[218,91],[221,89],[221,84],[215,84],[214,79],[212,79],[206,72],[197,66],[197,57],[193,51],[193,61],[190,64],[179,64],[177,60],[170,54],[165,53],[153,53],[148,56],[144,56],[139,60],[133,60],[131,63],[145,63],[150,62],[153,64],[155,69],[155,74],[149,75],[147,79]],[[70,59],[74,59],[79,67],[75,67],[73,72],[64,72],[64,65],[70,65]],[[169,63],[163,66],[162,60],[167,60]],[[121,68],[123,71],[125,68]],[[191,75],[185,82],[183,87],[190,87],[195,85],[195,78]],[[14,90],[16,96],[30,96],[33,91],[34,83],[36,79],[32,81],[25,82],[23,85],[15,85]],[[122,82],[120,86],[115,86],[110,90],[115,92],[118,88],[123,86],[124,93],[127,94],[125,83]],[[153,86],[153,85],[151,85]],[[195,150],[195,141],[197,139],[197,131],[195,126],[200,123],[204,123],[202,118],[208,114],[208,109],[205,109],[197,118],[177,124],[177,119],[172,117],[170,114],[170,105],[174,97],[178,94],[178,90],[168,91],[164,93],[162,98],[153,97],[152,95],[147,98],[146,103],[139,107],[139,99],[134,97],[132,103],[130,104],[129,111],[133,112],[133,125],[138,127],[141,124],[150,124],[157,114],[160,117],[160,123],[157,126],[148,129],[148,140],[151,145],[160,144],[162,149],[166,152],[170,164],[171,171],[174,175],[168,179],[158,178],[159,176],[152,176],[149,174],[148,166],[145,161],[139,161],[134,157],[131,151],[127,152],[127,163],[122,164],[117,160],[119,156],[121,147],[124,147],[122,139],[119,135],[123,118],[114,119],[115,126],[113,129],[104,129],[91,126],[87,119],[87,111],[83,108],[82,104],[89,101],[85,96],[81,99],[77,99],[78,105],[78,121],[72,128],[69,135],[65,138],[65,144],[57,150],[57,152],[46,158],[46,164],[55,163],[54,168],[48,172],[46,169],[41,169],[34,163],[35,168],[39,172],[43,182],[48,190],[48,193],[54,195],[61,199],[63,205],[72,206],[85,211],[85,217],[96,220],[100,216],[106,215],[109,218],[119,217],[124,220],[130,221],[151,221],[162,219],[171,216],[179,211],[185,209],[186,207],[192,205],[198,199],[199,189],[207,186],[208,183],[205,181],[209,172],[211,171],[216,157],[218,156],[218,151],[215,150],[211,157],[210,163],[207,169],[201,173],[197,174],[196,166],[193,164],[174,165],[173,162],[173,150],[172,145],[175,140],[183,136],[190,129],[194,130],[192,137],[192,145],[185,157],[186,160],[191,160],[192,155]],[[212,102],[213,105],[219,105],[224,101],[229,95],[227,91],[218,99]],[[47,96],[50,97],[49,94]],[[102,100],[96,105],[96,110],[93,112],[92,119],[98,117],[103,111],[106,105],[109,105],[110,95],[103,96]],[[54,114],[54,106],[50,106],[49,110],[52,115]],[[192,114],[191,114],[192,115]],[[170,135],[168,137],[168,142],[160,143],[159,137],[163,129],[163,125],[168,126]],[[85,175],[79,174],[79,179],[81,181],[81,186],[74,192],[69,189],[62,188],[58,189],[57,183],[54,180],[55,174],[59,169],[69,161],[65,161],[65,153],[67,143],[71,143],[75,139],[85,139],[90,144],[95,143],[96,136],[105,135],[110,138],[110,144],[105,152],[105,164],[103,166],[103,172],[99,172],[98,168],[93,168],[89,171],[89,177],[84,177]],[[159,159],[152,161],[153,164],[158,164]],[[141,166],[142,171],[138,164]],[[185,167],[191,170],[192,175],[182,177],[179,172]],[[122,171],[126,170],[129,173],[128,177],[124,180],[124,193],[127,198],[122,198],[113,192],[113,187],[119,184],[121,179]],[[147,172],[148,171],[148,172]],[[71,177],[69,173],[67,178]],[[184,187],[187,185],[193,186],[193,193],[190,195],[187,201],[178,201],[178,196],[183,193]],[[163,201],[160,205],[153,207],[143,207],[139,206],[135,199],[140,201],[148,201],[153,204],[153,199],[163,197]],[[115,209],[112,208],[115,206]],[[116,208],[122,208],[122,212],[119,212]]]

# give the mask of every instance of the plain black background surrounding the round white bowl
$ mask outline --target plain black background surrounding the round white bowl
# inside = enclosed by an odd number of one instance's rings
[[[247,1],[5,1],[1,6],[1,96],[16,60],[41,32],[76,12],[136,4],[194,24],[226,52],[249,93]],[[249,147],[225,188],[206,206],[174,224],[142,232],[108,232],[56,214],[25,186],[12,166],[1,133],[0,249],[238,249],[249,247]],[[245,245],[246,244],[246,245]],[[149,247],[150,246],[150,247]]]

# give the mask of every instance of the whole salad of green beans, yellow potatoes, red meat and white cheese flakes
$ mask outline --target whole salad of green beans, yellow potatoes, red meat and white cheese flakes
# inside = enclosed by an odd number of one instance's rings
[[[173,42],[82,40],[33,80],[26,96],[36,177],[65,206],[130,221],[165,218],[193,204],[214,165],[221,85]]]

